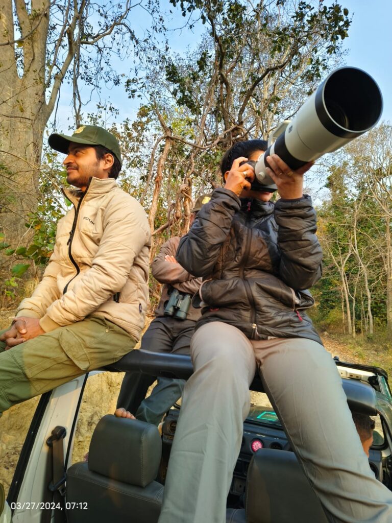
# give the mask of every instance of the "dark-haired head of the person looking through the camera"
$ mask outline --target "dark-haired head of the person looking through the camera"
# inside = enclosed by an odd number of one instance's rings
[[[226,181],[229,170],[232,168],[234,160],[240,156],[248,158],[248,160],[256,161],[259,156],[267,151],[267,140],[245,140],[237,142],[223,155],[221,162],[221,172],[223,179]],[[261,201],[269,201],[272,198],[273,192],[259,191],[252,189],[244,189],[240,194],[240,198],[256,198]]]

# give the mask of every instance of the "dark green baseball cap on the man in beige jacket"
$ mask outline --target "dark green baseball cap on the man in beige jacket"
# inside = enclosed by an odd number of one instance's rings
[[[82,143],[84,145],[101,145],[109,149],[116,156],[121,164],[120,145],[116,137],[109,131],[98,126],[80,126],[74,131],[72,136],[66,134],[51,134],[48,140],[49,145],[55,151],[68,154],[70,142]]]

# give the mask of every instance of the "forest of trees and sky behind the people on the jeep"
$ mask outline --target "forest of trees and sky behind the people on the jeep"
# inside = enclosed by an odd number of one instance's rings
[[[313,0],[0,0],[1,326],[41,278],[70,208],[51,132],[93,123],[117,135],[119,185],[148,213],[154,257],[188,230],[195,198],[221,185],[230,145],[267,139],[350,63],[352,22],[344,4]],[[391,131],[381,121],[305,179],[324,250],[313,319],[335,354],[389,371]],[[151,314],[159,291],[151,278]],[[3,416],[0,451],[24,418]]]

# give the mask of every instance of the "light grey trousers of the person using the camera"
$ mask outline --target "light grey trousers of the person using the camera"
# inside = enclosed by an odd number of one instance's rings
[[[369,467],[324,347],[305,338],[250,341],[212,322],[195,332],[191,356],[159,523],[225,522],[257,367],[328,520],[392,521],[392,493]]]

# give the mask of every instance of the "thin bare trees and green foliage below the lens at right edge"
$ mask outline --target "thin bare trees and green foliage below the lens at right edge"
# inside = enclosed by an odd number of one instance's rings
[[[391,131],[381,124],[337,155],[327,178],[330,198],[318,211],[324,251],[324,277],[315,287],[318,315],[327,318],[340,301],[355,331],[372,338],[392,326],[392,189],[384,183],[392,168]]]

